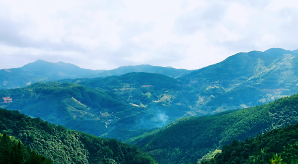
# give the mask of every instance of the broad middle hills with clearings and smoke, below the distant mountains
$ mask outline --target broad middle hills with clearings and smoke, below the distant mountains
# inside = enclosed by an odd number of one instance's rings
[[[251,86],[224,88],[218,81],[210,81],[195,87],[194,83],[181,80],[160,74],[129,73],[37,82],[0,90],[0,97],[13,98],[12,103],[0,105],[69,129],[125,141],[143,134],[140,131],[149,132],[182,117],[260,105],[281,96],[270,97]]]

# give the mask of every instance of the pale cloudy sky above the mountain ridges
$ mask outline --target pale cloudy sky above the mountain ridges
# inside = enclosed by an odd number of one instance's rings
[[[298,49],[297,0],[0,0],[0,69],[192,70],[273,47]]]

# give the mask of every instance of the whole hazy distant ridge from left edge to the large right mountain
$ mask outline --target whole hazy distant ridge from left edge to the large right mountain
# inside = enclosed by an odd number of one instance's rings
[[[37,60],[20,68],[0,70],[0,89],[18,88],[35,82],[120,76],[131,72],[156,73],[178,78],[192,71],[150,65],[123,66],[113,70],[89,70],[62,61],[51,63]]]

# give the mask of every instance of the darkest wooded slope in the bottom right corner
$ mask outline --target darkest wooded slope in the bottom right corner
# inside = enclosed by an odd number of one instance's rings
[[[276,156],[279,155],[279,157]],[[286,164],[298,163],[298,124],[274,129],[253,139],[234,140],[222,153],[202,164]],[[274,157],[274,159],[273,159]],[[276,162],[276,163],[275,163]]]

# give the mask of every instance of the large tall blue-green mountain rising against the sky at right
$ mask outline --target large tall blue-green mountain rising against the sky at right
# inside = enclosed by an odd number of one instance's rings
[[[224,61],[196,70],[179,80],[186,83],[249,85],[260,89],[292,89],[298,92],[298,51],[272,48],[238,53]]]

